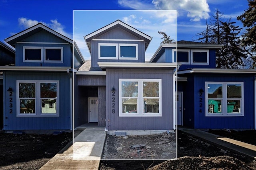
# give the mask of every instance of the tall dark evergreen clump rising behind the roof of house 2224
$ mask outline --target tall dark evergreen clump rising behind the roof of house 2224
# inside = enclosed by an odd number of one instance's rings
[[[216,10],[210,24],[206,20],[206,30],[196,34],[200,36],[196,41],[223,44],[224,47],[216,51],[216,68],[241,68],[244,66],[244,51],[240,47],[239,33],[241,28],[235,26],[223,17],[223,13]]]

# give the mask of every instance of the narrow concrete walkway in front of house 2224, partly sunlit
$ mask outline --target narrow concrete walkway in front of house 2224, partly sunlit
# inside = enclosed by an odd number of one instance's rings
[[[205,131],[198,129],[188,129],[184,127],[178,127],[178,131],[182,131],[194,137],[200,138],[203,141],[217,145],[220,148],[226,148],[238,154],[243,154],[250,158],[256,159],[256,146],[250,145],[248,143],[236,141],[234,139],[229,139],[226,137],[214,135]],[[178,132],[179,133],[179,132]]]

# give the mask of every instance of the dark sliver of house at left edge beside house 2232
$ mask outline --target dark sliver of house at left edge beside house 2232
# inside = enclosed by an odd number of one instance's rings
[[[0,41],[0,66],[15,64],[15,50]],[[0,71],[0,129],[4,127],[3,72]]]

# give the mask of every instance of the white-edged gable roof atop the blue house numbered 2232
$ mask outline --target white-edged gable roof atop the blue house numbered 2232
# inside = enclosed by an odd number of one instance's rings
[[[49,27],[46,27],[42,23],[38,23],[28,29],[25,29],[24,31],[16,33],[15,35],[12,35],[11,37],[6,38],[4,41],[6,41],[6,43],[12,45],[12,47],[15,47],[16,42],[19,42],[22,39],[29,37],[35,33],[38,33],[39,31],[42,31],[42,30],[48,31],[49,33],[52,33],[53,35],[63,39],[64,41],[67,41],[68,43],[73,44],[72,39],[54,31],[53,29],[50,29]]]

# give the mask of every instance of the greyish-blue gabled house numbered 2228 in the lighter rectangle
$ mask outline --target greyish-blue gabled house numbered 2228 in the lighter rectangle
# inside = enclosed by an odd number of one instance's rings
[[[116,20],[84,39],[91,60],[74,70],[74,127],[174,130],[176,63],[145,62],[152,37]]]

